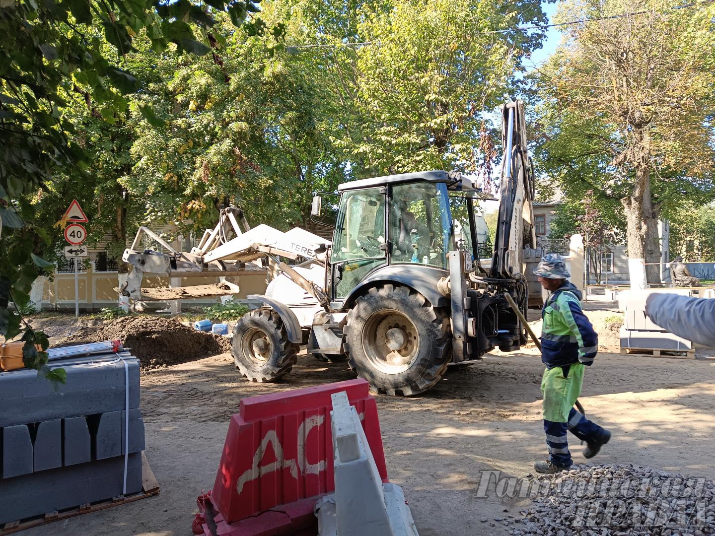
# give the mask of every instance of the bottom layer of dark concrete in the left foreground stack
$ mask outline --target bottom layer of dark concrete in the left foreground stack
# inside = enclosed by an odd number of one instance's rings
[[[122,495],[124,456],[0,480],[0,526]],[[129,455],[127,494],[142,490],[142,454]],[[51,531],[50,531],[51,532]]]

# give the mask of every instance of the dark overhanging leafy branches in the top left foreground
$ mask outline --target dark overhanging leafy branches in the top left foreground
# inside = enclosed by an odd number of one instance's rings
[[[145,34],[157,51],[207,54],[212,50],[213,16],[227,11],[236,26],[250,19],[257,34],[267,31],[255,19],[257,2],[211,0],[201,6],[189,0],[137,2],[128,0],[4,0],[0,3],[0,333],[6,339],[21,331],[19,308],[29,302],[32,282],[51,273],[43,259],[54,242],[46,222],[37,217],[36,203],[51,194],[52,177],[66,174],[87,182],[94,157],[92,144],[75,139],[74,124],[65,114],[67,94],[82,96],[98,116],[112,123],[115,112],[127,109],[124,96],[139,89],[137,78],[124,68],[133,37]],[[104,39],[92,35],[101,28]],[[280,36],[282,26],[270,31]],[[208,44],[207,44],[208,43]],[[151,109],[142,113],[152,116]],[[9,308],[13,302],[14,308]],[[26,326],[24,362],[53,379],[47,338]]]

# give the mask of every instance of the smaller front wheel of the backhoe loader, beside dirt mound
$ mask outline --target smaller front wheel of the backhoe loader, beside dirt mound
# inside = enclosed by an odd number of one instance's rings
[[[251,382],[275,382],[297,362],[300,346],[290,342],[280,314],[255,309],[237,322],[233,331],[233,360]]]

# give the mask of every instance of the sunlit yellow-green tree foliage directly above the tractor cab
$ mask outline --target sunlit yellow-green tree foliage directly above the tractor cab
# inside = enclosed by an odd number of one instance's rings
[[[363,5],[352,28],[373,46],[338,49],[327,66],[350,112],[337,146],[363,175],[458,168],[490,179],[484,112],[515,93],[515,75],[543,32],[488,32],[526,21],[546,21],[539,2]]]

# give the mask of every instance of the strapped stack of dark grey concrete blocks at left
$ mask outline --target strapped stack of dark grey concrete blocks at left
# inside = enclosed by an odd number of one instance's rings
[[[138,360],[124,352],[53,366],[66,384],[34,370],[0,374],[0,525],[142,490]]]

